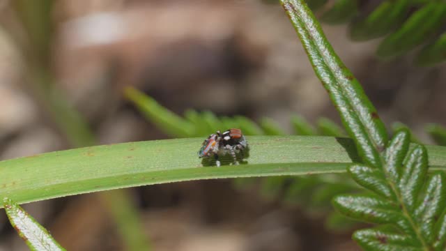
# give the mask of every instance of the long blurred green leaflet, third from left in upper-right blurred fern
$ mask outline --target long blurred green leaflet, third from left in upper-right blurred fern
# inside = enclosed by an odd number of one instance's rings
[[[398,56],[420,45],[446,22],[446,2],[430,1],[404,22],[401,29],[380,43],[376,54],[383,58]]]

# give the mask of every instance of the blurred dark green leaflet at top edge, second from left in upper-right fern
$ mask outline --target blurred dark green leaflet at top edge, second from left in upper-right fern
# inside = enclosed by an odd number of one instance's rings
[[[410,6],[411,0],[383,1],[363,20],[353,22],[351,38],[353,40],[370,40],[384,36],[406,19]]]

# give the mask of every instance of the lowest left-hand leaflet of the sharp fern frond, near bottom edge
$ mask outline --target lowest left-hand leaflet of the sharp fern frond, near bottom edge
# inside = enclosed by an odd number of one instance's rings
[[[412,236],[395,231],[380,229],[362,229],[355,231],[353,239],[364,250],[408,250],[422,251],[421,243]]]

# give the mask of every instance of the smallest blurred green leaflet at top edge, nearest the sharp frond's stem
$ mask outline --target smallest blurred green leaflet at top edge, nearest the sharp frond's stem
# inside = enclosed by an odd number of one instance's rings
[[[341,24],[350,21],[357,13],[357,0],[338,0],[334,2],[330,10],[321,15],[321,21],[328,24]]]

